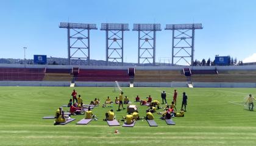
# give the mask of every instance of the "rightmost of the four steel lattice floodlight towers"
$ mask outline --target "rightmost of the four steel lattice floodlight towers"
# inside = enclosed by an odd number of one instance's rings
[[[172,30],[172,65],[179,63],[181,59],[193,65],[194,30],[196,29],[203,29],[202,24],[166,24],[165,30]],[[176,63],[174,58],[178,58]],[[191,58],[191,61],[189,62],[186,58]]]

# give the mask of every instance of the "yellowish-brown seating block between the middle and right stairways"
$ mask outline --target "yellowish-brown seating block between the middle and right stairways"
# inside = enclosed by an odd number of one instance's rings
[[[134,82],[187,82],[180,71],[172,70],[136,70]]]

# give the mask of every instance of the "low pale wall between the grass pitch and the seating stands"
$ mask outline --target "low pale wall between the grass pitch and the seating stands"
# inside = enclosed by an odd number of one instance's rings
[[[129,87],[129,82],[118,82]],[[256,83],[193,82],[194,88],[256,88]],[[134,87],[188,87],[188,82],[135,82]],[[70,86],[70,82],[0,81],[0,86]],[[76,82],[76,86],[114,87],[115,82]]]

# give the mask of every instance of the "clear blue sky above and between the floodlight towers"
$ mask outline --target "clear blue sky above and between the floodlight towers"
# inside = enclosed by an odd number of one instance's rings
[[[90,32],[90,57],[105,60],[101,23],[128,23],[124,32],[124,61],[138,61],[138,32],[134,23],[159,23],[158,62],[171,58],[172,33],[165,24],[202,23],[195,31],[194,59],[230,55],[256,61],[256,1],[254,0],[0,0],[0,58],[33,58],[34,54],[67,58],[67,31],[60,22],[97,24]]]

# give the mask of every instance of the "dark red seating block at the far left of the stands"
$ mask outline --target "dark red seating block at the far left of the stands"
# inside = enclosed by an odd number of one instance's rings
[[[2,81],[41,81],[44,68],[0,68]]]

